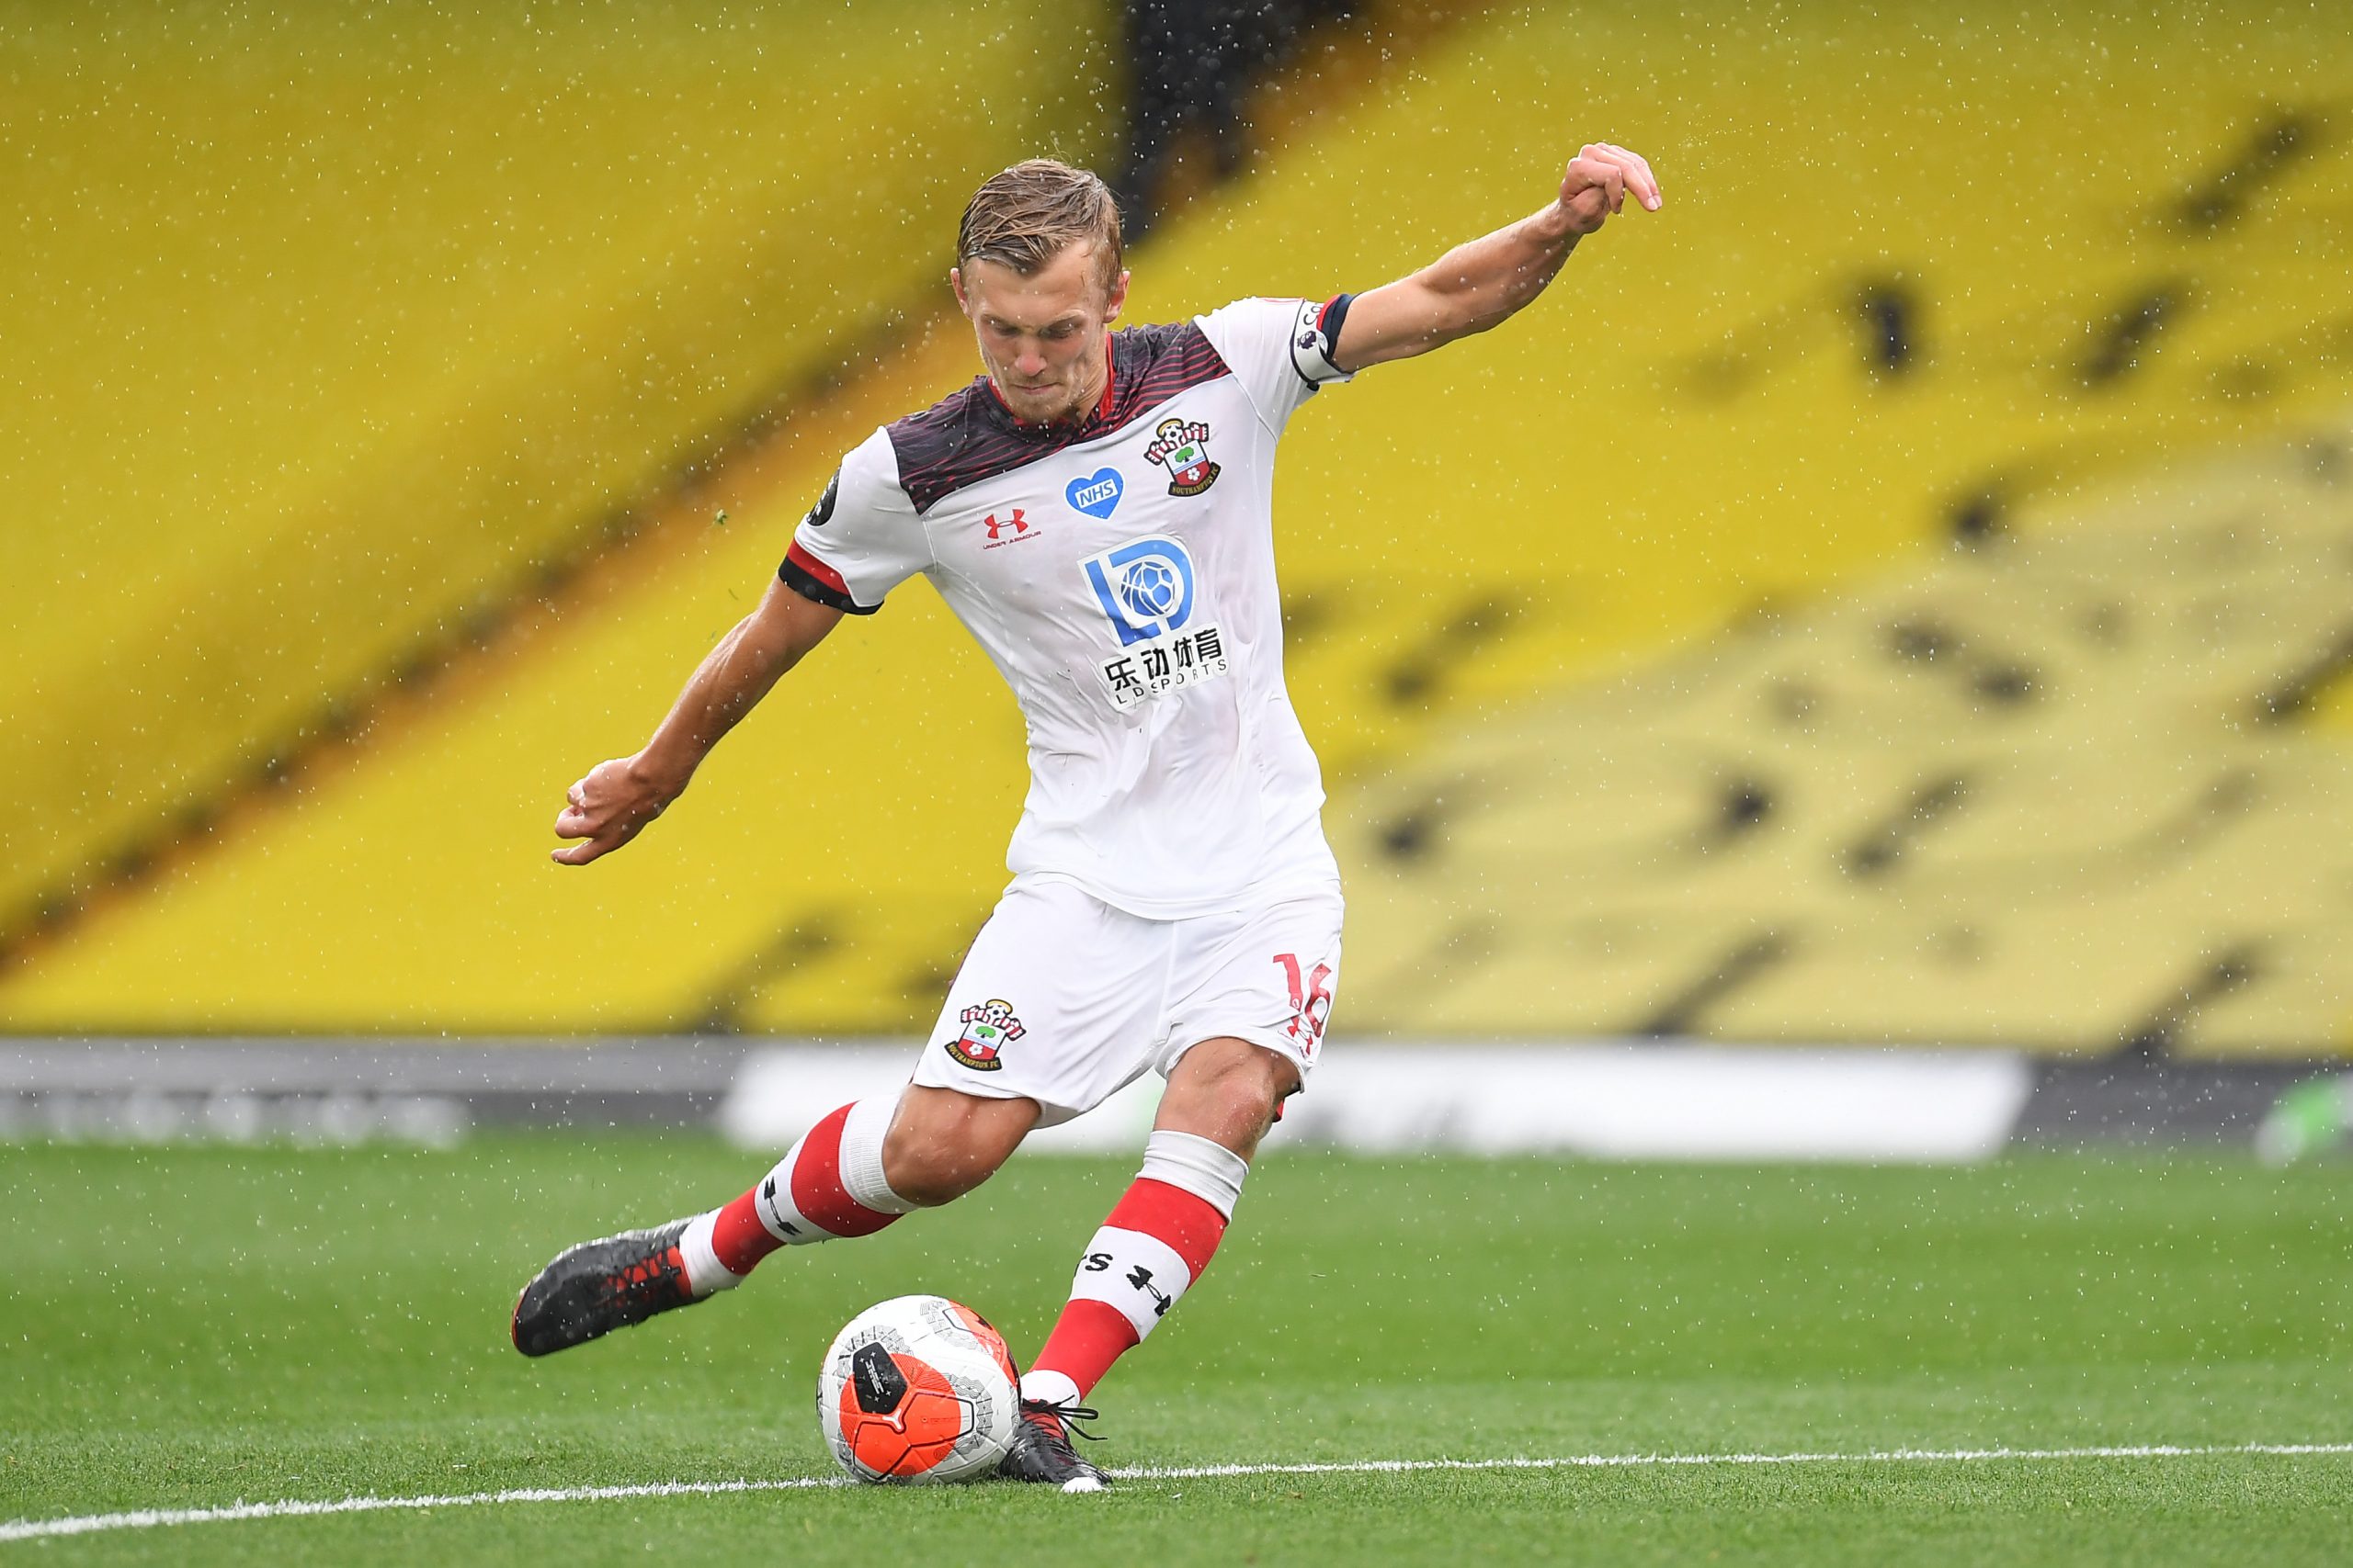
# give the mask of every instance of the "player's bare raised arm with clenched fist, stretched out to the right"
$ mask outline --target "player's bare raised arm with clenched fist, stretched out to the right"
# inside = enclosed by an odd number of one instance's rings
[[[1659,212],[1659,181],[1642,155],[1607,141],[1586,146],[1569,160],[1560,197],[1544,212],[1457,244],[1409,277],[1358,294],[1332,360],[1353,374],[1426,355],[1511,320],[1544,294],[1579,240],[1626,207],[1628,195],[1645,212]]]

